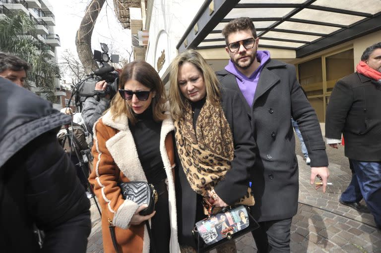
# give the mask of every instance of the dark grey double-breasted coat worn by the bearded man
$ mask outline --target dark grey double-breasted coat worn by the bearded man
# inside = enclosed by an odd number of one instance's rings
[[[252,172],[258,221],[285,219],[298,208],[298,161],[291,116],[298,122],[311,166],[327,166],[325,143],[315,110],[303,94],[293,65],[270,59],[259,77],[252,108],[236,77],[226,70],[216,73],[222,86],[238,91],[251,116],[257,154]]]

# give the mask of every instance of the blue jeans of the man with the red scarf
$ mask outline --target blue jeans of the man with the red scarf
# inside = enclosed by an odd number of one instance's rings
[[[347,190],[341,194],[341,200],[358,202],[363,197],[375,218],[376,225],[381,229],[381,162],[353,159],[350,159],[350,162],[355,174]]]

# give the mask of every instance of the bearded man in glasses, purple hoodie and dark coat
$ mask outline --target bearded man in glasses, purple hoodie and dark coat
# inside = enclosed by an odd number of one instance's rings
[[[260,225],[253,232],[258,253],[290,252],[299,190],[290,119],[297,121],[311,158],[311,184],[319,176],[325,192],[328,158],[318,118],[296,80],[295,67],[256,50],[259,39],[250,18],[230,21],[222,33],[230,61],[217,76],[222,86],[237,91],[244,101],[257,144],[252,214]]]

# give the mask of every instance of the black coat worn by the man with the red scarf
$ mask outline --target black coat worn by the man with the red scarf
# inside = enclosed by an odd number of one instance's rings
[[[381,84],[359,73],[340,79],[325,115],[325,137],[345,140],[345,156],[381,161]]]

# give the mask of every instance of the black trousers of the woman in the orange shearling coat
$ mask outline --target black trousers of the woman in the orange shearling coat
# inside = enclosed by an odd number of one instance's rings
[[[169,219],[168,190],[164,181],[153,184],[159,195],[155,205],[156,213],[151,218],[151,230],[153,242],[149,252],[153,253],[153,247],[156,253],[169,253],[169,242],[171,238],[171,223]],[[152,244],[153,243],[153,244]]]

